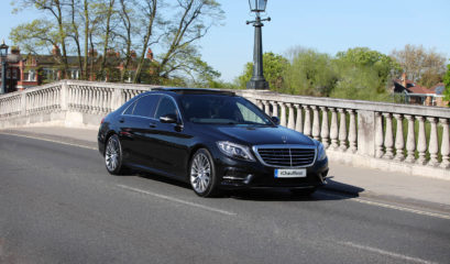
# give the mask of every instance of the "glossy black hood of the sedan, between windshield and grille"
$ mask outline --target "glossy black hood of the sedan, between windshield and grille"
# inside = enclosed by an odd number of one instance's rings
[[[205,131],[217,141],[233,141],[245,145],[265,144],[303,144],[315,145],[312,140],[294,130],[284,127],[259,125],[208,125]]]

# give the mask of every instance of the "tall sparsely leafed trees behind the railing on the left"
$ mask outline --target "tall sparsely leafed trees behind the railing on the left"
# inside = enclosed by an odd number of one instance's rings
[[[14,12],[33,9],[44,15],[12,29],[14,44],[34,54],[48,54],[53,45],[58,45],[64,72],[69,54],[76,54],[86,79],[108,76],[111,81],[123,81],[130,72],[134,73],[135,82],[163,84],[200,73],[206,73],[205,79],[212,82],[219,77],[201,61],[196,45],[223,19],[216,0],[19,0],[14,6]],[[150,47],[161,51],[152,72],[145,68],[150,65]],[[122,55],[112,62],[107,59],[109,51]],[[96,59],[89,58],[90,53],[97,52]],[[120,64],[117,76],[113,68]]]

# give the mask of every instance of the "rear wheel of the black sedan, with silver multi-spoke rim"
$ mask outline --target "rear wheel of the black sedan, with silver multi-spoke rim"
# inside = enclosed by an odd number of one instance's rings
[[[121,175],[125,170],[122,164],[122,145],[117,134],[111,135],[105,147],[105,165],[108,173]]]

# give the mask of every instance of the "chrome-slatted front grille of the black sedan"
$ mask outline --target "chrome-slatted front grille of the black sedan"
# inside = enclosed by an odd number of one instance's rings
[[[304,167],[312,165],[316,150],[306,147],[286,147],[286,146],[259,146],[255,152],[260,160],[270,166],[279,167]]]

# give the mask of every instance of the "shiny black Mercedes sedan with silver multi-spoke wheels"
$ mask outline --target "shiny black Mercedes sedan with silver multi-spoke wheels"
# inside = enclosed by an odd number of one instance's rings
[[[233,92],[211,89],[134,97],[102,120],[98,146],[110,174],[142,169],[189,183],[202,197],[261,187],[312,194],[328,174],[320,142]]]

